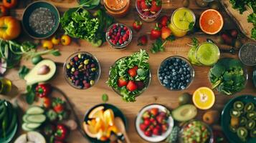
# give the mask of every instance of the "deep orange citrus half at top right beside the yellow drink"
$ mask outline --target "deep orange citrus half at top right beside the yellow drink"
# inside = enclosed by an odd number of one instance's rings
[[[217,34],[223,27],[224,21],[222,14],[215,9],[207,9],[199,19],[199,25],[206,34]]]

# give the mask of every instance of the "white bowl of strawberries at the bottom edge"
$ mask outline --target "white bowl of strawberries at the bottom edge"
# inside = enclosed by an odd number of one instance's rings
[[[169,109],[161,104],[143,107],[136,117],[136,131],[147,142],[162,142],[171,134],[174,119]]]

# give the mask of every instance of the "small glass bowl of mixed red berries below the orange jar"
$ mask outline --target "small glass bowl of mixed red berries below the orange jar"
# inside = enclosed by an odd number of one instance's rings
[[[132,31],[125,24],[115,23],[108,27],[106,41],[115,49],[125,49],[131,43]]]

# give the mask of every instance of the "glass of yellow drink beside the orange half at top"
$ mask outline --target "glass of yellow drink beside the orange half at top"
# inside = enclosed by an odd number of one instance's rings
[[[189,25],[196,23],[196,16],[194,12],[187,8],[179,8],[171,15],[171,29],[172,34],[177,37],[185,36],[189,31]]]

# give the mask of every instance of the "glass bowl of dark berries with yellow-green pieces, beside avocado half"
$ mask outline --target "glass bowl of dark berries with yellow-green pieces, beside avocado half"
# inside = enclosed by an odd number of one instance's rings
[[[93,54],[78,51],[63,66],[65,79],[75,89],[89,89],[100,79],[100,63]]]

